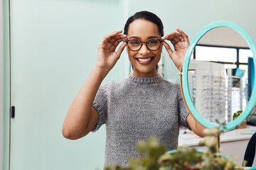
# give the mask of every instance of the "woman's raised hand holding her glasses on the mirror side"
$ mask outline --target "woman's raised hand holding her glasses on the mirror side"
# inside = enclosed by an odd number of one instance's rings
[[[183,67],[183,62],[185,59],[186,51],[188,50],[189,40],[188,35],[186,35],[182,30],[177,29],[178,33],[170,33],[161,39],[163,40],[162,43],[166,48],[169,57],[173,60],[174,64],[178,69]],[[171,43],[174,45],[174,50],[171,50],[171,47],[167,42],[164,40],[170,40]]]

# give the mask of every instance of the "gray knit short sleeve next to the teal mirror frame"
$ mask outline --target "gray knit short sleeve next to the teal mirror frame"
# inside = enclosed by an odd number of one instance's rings
[[[179,117],[179,125],[188,128],[191,130],[189,127],[188,123],[186,122],[186,118],[189,115],[189,112],[186,108],[186,105],[183,101],[182,95],[181,95],[181,86],[179,84],[176,84],[178,88],[178,117]]]

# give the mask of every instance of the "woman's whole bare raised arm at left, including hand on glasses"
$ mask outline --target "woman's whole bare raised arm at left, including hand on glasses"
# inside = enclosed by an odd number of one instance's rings
[[[120,45],[115,52],[119,42],[127,39],[126,35],[120,35],[122,30],[115,31],[103,38],[98,47],[97,64],[92,69],[82,89],[78,92],[63,123],[63,136],[70,140],[77,140],[87,135],[93,126],[97,123],[100,116],[99,113],[92,108],[92,103],[97,94],[103,79],[108,72],[114,67],[124,50],[126,43]]]

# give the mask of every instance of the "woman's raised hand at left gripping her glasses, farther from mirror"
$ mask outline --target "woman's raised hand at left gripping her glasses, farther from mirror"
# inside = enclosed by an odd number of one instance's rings
[[[105,70],[105,72],[110,72],[114,67],[126,45],[126,42],[123,42],[115,52],[119,42],[127,40],[127,35],[120,33],[122,33],[122,30],[114,31],[105,36],[98,47],[96,67]]]

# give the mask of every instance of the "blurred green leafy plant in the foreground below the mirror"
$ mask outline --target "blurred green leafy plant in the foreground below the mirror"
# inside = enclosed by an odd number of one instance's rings
[[[205,129],[206,137],[203,137],[200,146],[207,147],[205,152],[199,152],[193,147],[182,147],[172,153],[166,152],[166,147],[159,144],[156,137],[149,140],[137,142],[137,150],[140,157],[129,159],[129,165],[122,167],[112,164],[105,170],[240,170],[242,168],[218,153],[217,137],[220,135],[221,127],[225,123],[218,123],[219,127]]]

